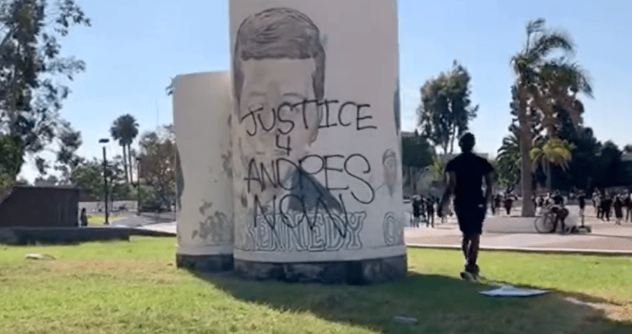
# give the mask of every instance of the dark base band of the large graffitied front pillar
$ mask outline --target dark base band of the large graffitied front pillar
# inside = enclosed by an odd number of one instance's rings
[[[356,261],[273,263],[235,260],[235,272],[245,279],[274,279],[289,283],[361,285],[401,279],[406,255]]]

